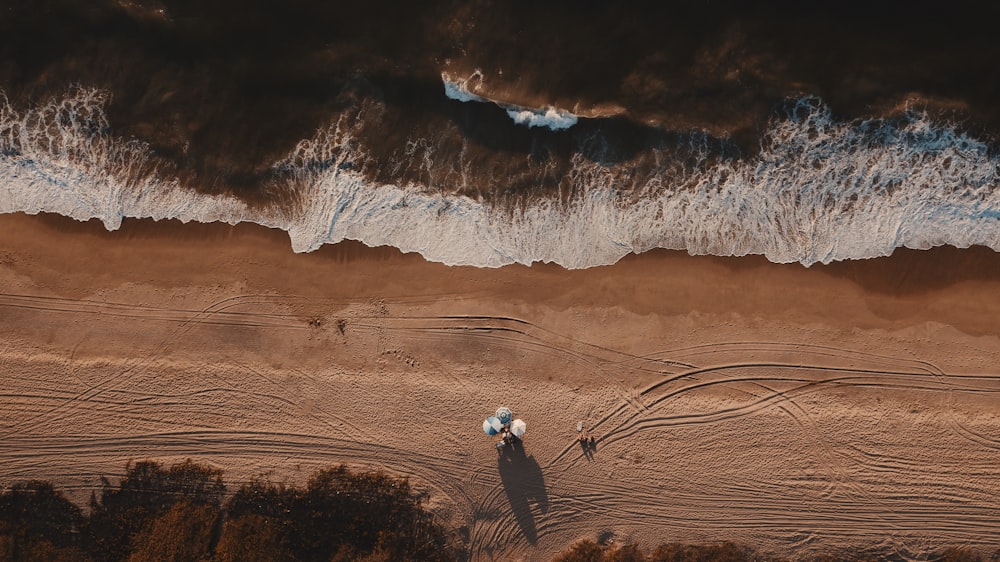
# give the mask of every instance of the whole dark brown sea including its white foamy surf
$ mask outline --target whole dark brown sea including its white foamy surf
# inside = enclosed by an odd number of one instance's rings
[[[0,212],[496,266],[1000,249],[996,5],[0,3]]]

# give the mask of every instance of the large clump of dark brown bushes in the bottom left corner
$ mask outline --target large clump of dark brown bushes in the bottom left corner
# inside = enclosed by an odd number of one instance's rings
[[[226,500],[220,471],[129,464],[89,514],[51,484],[0,495],[0,561],[453,560],[444,528],[405,479],[345,467],[305,487],[255,481]]]

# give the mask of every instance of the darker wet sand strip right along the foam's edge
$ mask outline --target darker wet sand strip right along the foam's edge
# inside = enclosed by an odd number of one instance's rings
[[[796,312],[802,320],[822,319],[837,321],[834,316],[844,315],[836,303],[826,299],[810,301],[812,297],[832,291],[830,296],[840,295],[852,299],[862,299],[869,307],[871,316],[863,315],[862,323],[855,324],[859,318],[850,318],[849,327],[862,328],[899,328],[907,324],[920,322],[937,322],[951,325],[960,331],[971,335],[984,335],[996,326],[988,318],[991,310],[1000,312],[1000,305],[991,302],[991,287],[1000,289],[1000,252],[984,246],[970,248],[955,248],[940,246],[929,250],[897,249],[892,256],[870,258],[865,260],[849,260],[830,264],[815,264],[810,267],[798,263],[777,264],[767,261],[763,256],[692,256],[682,250],[655,249],[642,254],[629,254],[615,264],[586,269],[566,269],[557,264],[535,263],[531,266],[519,264],[506,265],[499,268],[479,268],[474,266],[449,266],[427,261],[417,253],[403,253],[391,246],[368,247],[361,242],[343,241],[337,244],[324,245],[314,252],[293,253],[288,242],[287,233],[279,229],[267,228],[253,223],[239,223],[231,226],[223,223],[181,223],[168,219],[155,221],[153,219],[125,219],[117,231],[108,231],[97,219],[80,222],[72,218],[50,213],[25,215],[17,213],[0,215],[0,225],[8,232],[24,230],[32,239],[34,250],[41,250],[46,244],[57,244],[61,239],[76,239],[83,237],[97,244],[110,244],[117,249],[103,250],[101,259],[114,259],[124,253],[138,256],[145,252],[158,252],[157,260],[181,260],[185,246],[202,245],[200,252],[218,254],[224,265],[217,266],[210,274],[225,275],[237,272],[240,268],[239,259],[247,260],[251,267],[240,270],[247,276],[248,282],[261,287],[268,284],[278,285],[280,281],[269,275],[265,268],[253,267],[255,252],[266,251],[267,266],[301,267],[305,271],[317,272],[329,267],[341,272],[345,267],[355,264],[381,264],[391,267],[405,267],[409,271],[420,270],[430,276],[429,279],[449,278],[459,282],[459,288],[465,291],[478,290],[485,284],[491,290],[500,293],[512,292],[505,290],[512,283],[554,283],[564,291],[573,291],[574,287],[588,282],[599,283],[601,291],[591,295],[573,293],[573,297],[583,299],[584,304],[603,307],[626,307],[636,313],[676,313],[685,308],[703,310],[706,312],[733,311],[744,315],[762,315],[771,317],[776,311],[770,302],[777,298],[794,298]],[[30,234],[28,233],[30,231]],[[19,236],[8,235],[11,239]],[[45,239],[48,241],[44,241]],[[8,253],[18,253],[16,243],[8,244]],[[53,246],[58,252],[58,247]],[[117,254],[115,254],[117,252]],[[73,260],[84,256],[63,255],[60,259]],[[149,278],[149,264],[142,264],[136,269],[129,269],[128,264],[117,262],[119,274],[124,274],[128,282],[148,282],[171,285],[198,282],[199,275],[194,272],[160,271],[164,275],[156,279]],[[155,267],[155,264],[154,264]],[[713,280],[723,280],[715,290],[702,287],[701,293],[708,293],[710,298],[698,294],[697,283],[687,280],[697,275],[712,275]],[[314,273],[315,275],[315,273]],[[636,276],[642,282],[648,283],[644,288],[648,297],[636,294],[628,287],[614,287],[613,278]],[[500,278],[505,278],[501,281]],[[425,279],[417,277],[415,279]],[[509,279],[506,280],[506,279]],[[383,284],[391,285],[391,280],[382,280]],[[433,281],[431,282],[433,283]],[[656,287],[655,284],[670,284],[670,287]],[[771,284],[771,285],[769,285]],[[60,286],[58,282],[56,286]],[[346,294],[335,284],[330,283],[325,288],[321,283],[309,287],[314,294],[324,294],[333,291],[334,294]],[[62,284],[63,287],[68,284]],[[970,307],[962,307],[961,303],[948,295],[949,291],[958,287],[968,291],[973,297],[980,297],[971,306],[982,311],[982,314],[971,313]],[[475,289],[473,289],[475,288]],[[694,300],[689,304],[656,302],[655,297],[666,296],[669,288],[685,289]],[[377,292],[372,287],[373,292]],[[749,290],[748,290],[749,289]],[[718,302],[720,292],[745,291],[743,299],[736,302]],[[554,291],[561,293],[563,291]],[[579,301],[564,294],[546,295],[550,305],[573,306]],[[936,306],[930,310],[907,310],[913,299],[926,297]],[[530,300],[530,299],[527,299]],[[740,302],[742,300],[742,302]],[[959,306],[959,310],[949,310],[950,306]],[[985,307],[985,308],[983,308]],[[779,315],[790,311],[782,307]]]

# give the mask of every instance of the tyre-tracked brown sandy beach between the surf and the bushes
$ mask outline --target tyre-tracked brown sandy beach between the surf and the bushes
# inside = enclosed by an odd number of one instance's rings
[[[255,226],[0,216],[0,485],[129,459],[407,475],[474,559],[581,537],[1000,547],[1000,256],[447,267]],[[482,419],[506,404],[526,456]],[[583,420],[596,450],[576,441]]]

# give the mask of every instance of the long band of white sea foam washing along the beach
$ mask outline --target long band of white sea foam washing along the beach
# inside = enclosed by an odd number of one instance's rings
[[[122,217],[250,221],[287,230],[297,252],[354,239],[485,267],[590,267],[657,247],[806,265],[901,246],[1000,250],[996,157],[921,115],[902,124],[836,122],[817,100],[804,99],[801,117],[775,121],[753,159],[704,159],[685,174],[651,173],[623,193],[626,172],[578,158],[576,199],[516,212],[426,186],[366,183],[352,170],[363,154],[344,119],[275,164],[302,194],[301,209],[287,213],[144,174],[147,147],[107,134],[105,101],[101,92],[79,90],[23,113],[0,106],[0,212],[97,217],[110,230]]]

